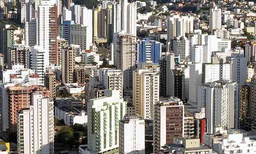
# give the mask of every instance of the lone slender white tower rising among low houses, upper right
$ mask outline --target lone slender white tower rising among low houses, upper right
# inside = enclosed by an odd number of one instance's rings
[[[209,30],[213,32],[215,29],[221,29],[221,9],[217,6],[210,8]]]

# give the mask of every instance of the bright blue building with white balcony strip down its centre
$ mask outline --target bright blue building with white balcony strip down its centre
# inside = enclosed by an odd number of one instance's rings
[[[159,63],[161,50],[162,43],[144,38],[137,44],[137,62],[145,63],[146,61],[153,61],[153,63]]]

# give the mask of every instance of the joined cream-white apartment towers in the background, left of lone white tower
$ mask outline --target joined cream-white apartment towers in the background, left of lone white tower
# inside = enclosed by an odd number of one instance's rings
[[[193,33],[193,22],[194,18],[191,16],[173,15],[169,17],[167,21],[168,41],[178,36],[185,37],[186,33]]]

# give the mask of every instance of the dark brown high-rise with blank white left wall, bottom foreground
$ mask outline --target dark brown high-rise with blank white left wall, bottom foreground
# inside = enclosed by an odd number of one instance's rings
[[[160,154],[162,146],[172,144],[184,135],[184,105],[180,99],[170,97],[154,105],[153,151]]]

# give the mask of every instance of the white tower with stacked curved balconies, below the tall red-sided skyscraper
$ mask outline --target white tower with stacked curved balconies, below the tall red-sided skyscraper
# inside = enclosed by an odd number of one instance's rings
[[[40,85],[44,85],[44,73],[49,66],[49,51],[43,46],[32,46],[30,52],[30,68],[39,75]]]

